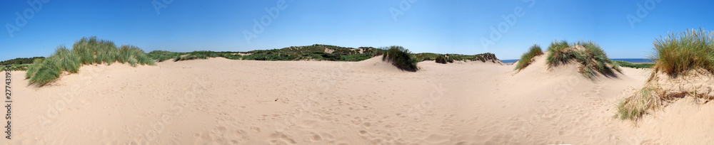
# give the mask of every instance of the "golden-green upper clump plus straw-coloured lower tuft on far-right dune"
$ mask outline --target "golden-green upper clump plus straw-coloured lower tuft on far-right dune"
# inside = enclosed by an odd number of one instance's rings
[[[714,73],[714,43],[713,33],[703,29],[687,30],[680,33],[670,33],[668,37],[655,39],[653,59],[657,63],[653,66],[650,80],[645,87],[634,95],[625,98],[618,104],[615,117],[620,119],[637,120],[650,110],[663,107],[665,100],[672,99],[666,92],[660,90],[652,81],[656,73],[666,73],[672,77],[688,75],[699,70]],[[695,70],[695,71],[693,71]],[[648,87],[653,86],[653,87]],[[693,90],[696,94],[697,90]],[[694,98],[697,96],[694,95]]]

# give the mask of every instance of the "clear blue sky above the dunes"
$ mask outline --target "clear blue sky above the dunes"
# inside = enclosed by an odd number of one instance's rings
[[[0,60],[49,56],[57,45],[71,47],[84,36],[136,45],[147,53],[317,43],[354,48],[402,45],[415,53],[490,52],[502,60],[519,58],[534,43],[545,48],[556,39],[585,39],[599,43],[610,58],[646,58],[650,53],[643,50],[651,50],[660,35],[714,29],[714,1],[285,0],[275,18],[264,9],[278,7],[278,0],[173,0],[166,1],[171,2],[166,7],[161,6],[163,0],[156,0],[161,3],[158,13],[151,0],[36,1],[41,8],[24,0],[0,1]],[[522,11],[514,13],[519,8]],[[17,21],[16,13],[25,15],[20,17],[26,23]],[[511,14],[520,15],[513,25],[503,19]],[[640,21],[630,25],[628,15]],[[243,31],[255,32],[253,20],[263,16],[269,25],[248,43]],[[498,31],[501,23],[507,31],[491,38],[491,27]],[[493,43],[484,47],[482,38]]]

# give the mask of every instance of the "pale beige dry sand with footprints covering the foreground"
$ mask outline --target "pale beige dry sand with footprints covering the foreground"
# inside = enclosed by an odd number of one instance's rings
[[[637,126],[615,105],[648,70],[591,81],[513,65],[211,58],[84,66],[46,87],[15,72],[5,144],[713,144],[714,106],[680,100]]]

